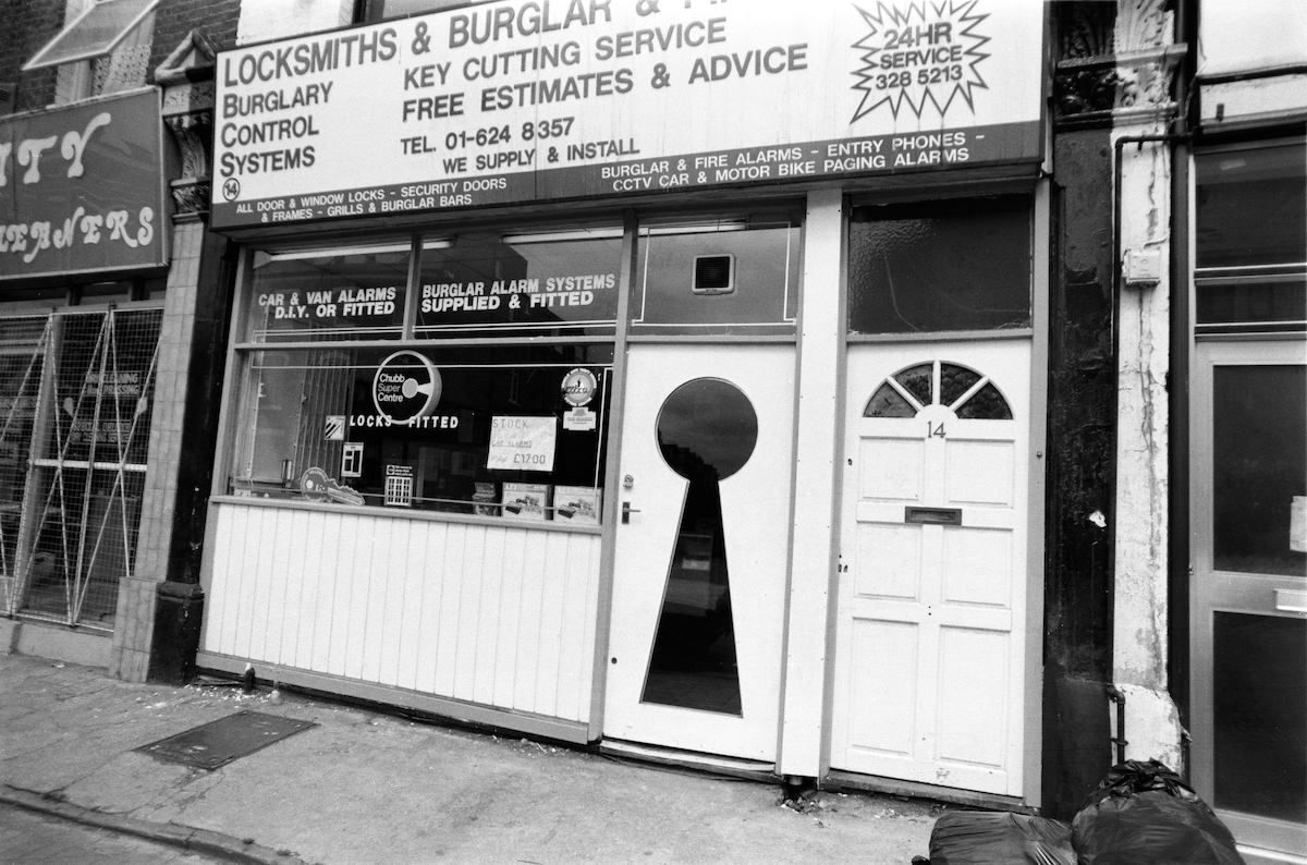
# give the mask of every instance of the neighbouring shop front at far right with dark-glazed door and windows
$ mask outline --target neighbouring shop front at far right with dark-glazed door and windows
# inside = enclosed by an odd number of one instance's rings
[[[1192,365],[1189,630],[1176,649],[1189,665],[1196,788],[1249,862],[1302,862],[1307,17],[1289,5],[1257,21],[1204,10],[1182,333]]]

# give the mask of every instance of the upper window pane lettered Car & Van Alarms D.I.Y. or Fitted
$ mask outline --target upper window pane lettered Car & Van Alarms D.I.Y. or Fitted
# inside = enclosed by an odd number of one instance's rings
[[[408,243],[256,252],[248,338],[399,338],[408,263]]]

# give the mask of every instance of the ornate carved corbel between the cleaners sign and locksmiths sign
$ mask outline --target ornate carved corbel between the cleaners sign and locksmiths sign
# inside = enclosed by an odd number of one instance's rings
[[[209,212],[216,56],[217,46],[192,30],[154,71],[163,88],[163,122],[182,154],[179,175],[170,182],[178,222],[203,220]]]

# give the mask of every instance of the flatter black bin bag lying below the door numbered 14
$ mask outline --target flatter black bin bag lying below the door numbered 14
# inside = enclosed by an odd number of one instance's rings
[[[1070,826],[1004,811],[948,811],[931,830],[931,865],[1076,865]]]

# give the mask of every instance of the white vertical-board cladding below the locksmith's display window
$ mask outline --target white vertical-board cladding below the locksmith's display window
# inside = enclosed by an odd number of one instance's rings
[[[237,503],[214,516],[201,652],[260,677],[589,717],[597,534]]]

